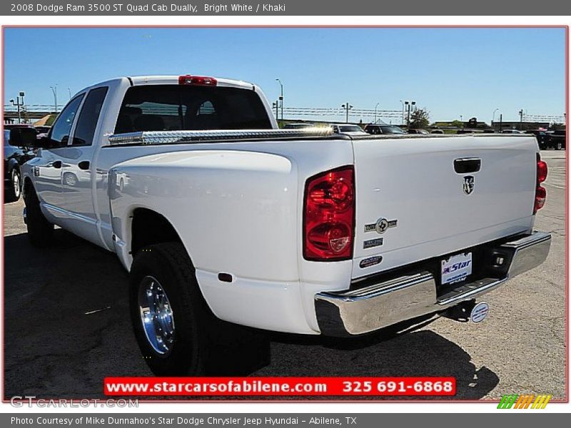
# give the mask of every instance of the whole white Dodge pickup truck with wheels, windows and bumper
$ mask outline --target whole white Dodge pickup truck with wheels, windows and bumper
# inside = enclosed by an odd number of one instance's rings
[[[256,85],[146,76],[14,138],[41,148],[22,168],[31,243],[59,225],[117,254],[157,374],[200,374],[213,320],[328,336],[480,321],[475,299],[550,248],[533,136],[280,130]]]

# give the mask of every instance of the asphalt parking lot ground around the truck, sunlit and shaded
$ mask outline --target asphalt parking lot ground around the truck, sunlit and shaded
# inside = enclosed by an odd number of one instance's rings
[[[488,294],[485,322],[438,318],[390,339],[271,335],[271,363],[253,375],[442,375],[456,377],[456,399],[565,399],[565,152],[542,158],[547,203],[535,225],[552,233],[549,258]],[[52,248],[32,248],[23,206],[4,205],[4,399],[100,398],[103,377],[151,375],[131,332],[127,274],[116,257],[63,230]]]

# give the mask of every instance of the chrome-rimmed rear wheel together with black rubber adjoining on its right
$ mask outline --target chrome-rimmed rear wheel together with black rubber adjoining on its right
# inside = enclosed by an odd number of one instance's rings
[[[139,250],[130,282],[133,330],[154,374],[244,376],[268,365],[267,335],[213,315],[181,243]]]

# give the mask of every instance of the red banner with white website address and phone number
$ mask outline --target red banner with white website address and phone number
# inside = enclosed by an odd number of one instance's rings
[[[329,396],[450,395],[454,377],[106,377],[106,395]]]

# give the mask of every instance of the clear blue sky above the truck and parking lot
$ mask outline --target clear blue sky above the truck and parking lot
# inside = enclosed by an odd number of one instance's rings
[[[285,107],[400,111],[414,100],[430,121],[487,123],[496,109],[504,121],[565,112],[564,29],[4,31],[4,104],[25,91],[26,104],[53,105],[56,84],[60,104],[117,76],[196,74],[256,83],[270,102],[280,78]]]

